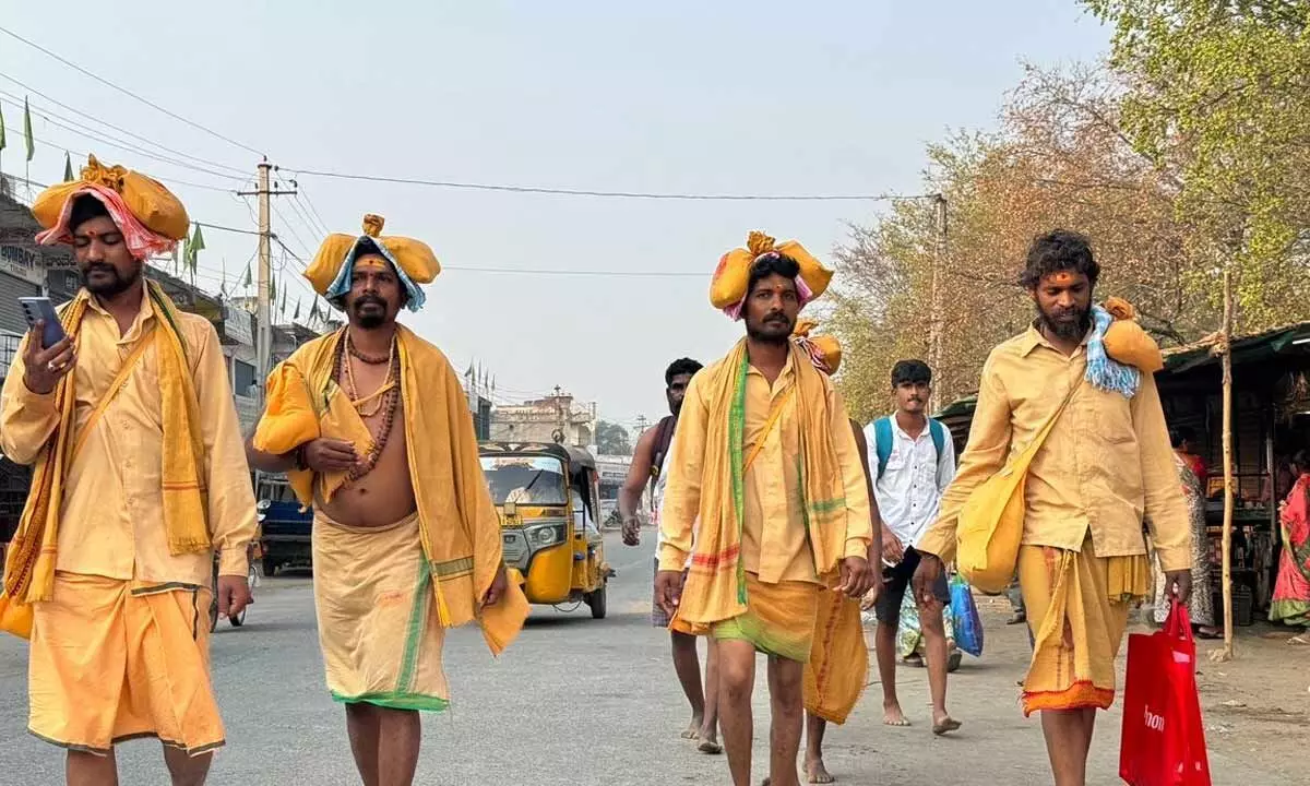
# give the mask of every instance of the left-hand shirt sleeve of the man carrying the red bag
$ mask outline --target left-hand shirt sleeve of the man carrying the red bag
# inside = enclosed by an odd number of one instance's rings
[[[955,529],[959,525],[960,508],[975,489],[1005,466],[1010,457],[1010,400],[989,358],[982,367],[969,441],[960,455],[955,479],[942,495],[942,510],[937,521],[914,546],[917,552],[937,554],[943,562],[955,558]]]

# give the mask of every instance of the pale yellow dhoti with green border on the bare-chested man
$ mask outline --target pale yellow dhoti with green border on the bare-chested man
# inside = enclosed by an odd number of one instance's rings
[[[444,710],[449,703],[441,667],[445,629],[438,618],[418,514],[365,528],[316,512],[313,561],[318,643],[331,697]],[[472,559],[466,562],[472,571]]]

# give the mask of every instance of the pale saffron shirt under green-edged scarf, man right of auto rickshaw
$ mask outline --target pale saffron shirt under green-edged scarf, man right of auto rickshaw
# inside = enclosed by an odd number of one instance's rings
[[[804,523],[800,424],[795,396],[787,396],[778,422],[768,435],[765,434],[776,402],[795,384],[791,356],[773,385],[755,367],[747,371],[745,379],[741,447],[745,456],[753,452],[761,439],[764,447],[743,478],[745,506],[741,559],[748,572],[758,574],[760,580],[768,584],[819,582]],[[677,456],[684,464],[673,465],[669,461],[667,468],[667,474],[676,473],[677,477],[676,481],[669,479],[660,507],[663,534],[659,546],[660,570],[683,570],[690,557],[693,524],[701,507],[702,456],[706,449],[718,449],[718,445],[706,444],[706,426],[710,417],[709,390],[703,388],[706,380],[705,373],[692,377],[679,414],[675,441],[679,443]],[[845,403],[827,376],[824,376],[824,390],[828,396],[828,411],[832,415],[832,440],[842,472],[846,504],[854,511],[848,519],[854,523],[854,528],[846,532],[842,555],[867,557],[869,544],[872,541],[872,525],[869,516],[865,468],[859,460],[859,448],[850,430]]]

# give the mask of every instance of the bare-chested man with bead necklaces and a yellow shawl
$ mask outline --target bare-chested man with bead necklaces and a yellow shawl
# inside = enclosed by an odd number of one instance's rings
[[[460,380],[396,321],[440,266],[426,244],[330,234],[305,276],[346,312],[269,377],[250,461],[287,472],[314,508],[318,639],[364,783],[411,783],[419,710],[441,711],[448,627],[477,622],[493,654],[528,614],[507,586],[500,525]]]

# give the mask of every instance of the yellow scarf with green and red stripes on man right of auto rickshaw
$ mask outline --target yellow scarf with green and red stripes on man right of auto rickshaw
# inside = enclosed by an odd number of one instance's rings
[[[831,583],[846,544],[846,490],[833,444],[832,413],[821,373],[791,345],[795,405],[800,431],[802,512],[815,571]],[[747,610],[741,519],[745,507],[745,341],[707,381],[710,417],[701,470],[701,508],[692,565],[675,622],[693,630]],[[845,418],[841,421],[845,423]],[[766,435],[765,435],[766,436]]]

